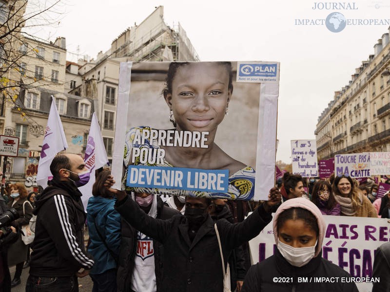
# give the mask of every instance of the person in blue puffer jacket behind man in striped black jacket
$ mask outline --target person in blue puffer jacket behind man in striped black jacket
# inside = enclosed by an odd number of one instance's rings
[[[87,205],[90,243],[88,252],[95,264],[89,273],[94,282],[92,292],[117,291],[117,257],[120,246],[120,215],[114,209],[116,198],[103,183],[111,174],[103,169],[96,178]]]

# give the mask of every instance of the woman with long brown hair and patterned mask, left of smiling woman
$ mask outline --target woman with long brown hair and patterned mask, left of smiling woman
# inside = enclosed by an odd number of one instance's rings
[[[323,215],[340,215],[340,205],[334,200],[331,184],[318,181],[314,184],[312,200]]]

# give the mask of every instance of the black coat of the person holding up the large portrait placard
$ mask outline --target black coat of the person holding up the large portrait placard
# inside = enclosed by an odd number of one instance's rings
[[[223,291],[221,257],[210,216],[207,216],[191,242],[188,220],[183,215],[175,215],[169,220],[154,219],[140,210],[129,197],[117,201],[116,208],[137,230],[163,244],[161,292]],[[225,219],[217,221],[225,266],[232,250],[257,236],[271,219],[271,215],[260,206],[241,223],[231,224]]]

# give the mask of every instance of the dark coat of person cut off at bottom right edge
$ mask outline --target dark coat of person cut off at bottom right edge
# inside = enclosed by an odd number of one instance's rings
[[[379,277],[379,283],[373,283],[372,292],[390,291],[390,242],[377,248],[372,277]]]

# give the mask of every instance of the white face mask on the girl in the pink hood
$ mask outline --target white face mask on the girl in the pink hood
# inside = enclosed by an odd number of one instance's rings
[[[314,246],[292,247],[279,240],[277,249],[292,266],[302,267],[306,265],[314,257],[315,246],[317,245],[317,241],[315,241]]]

